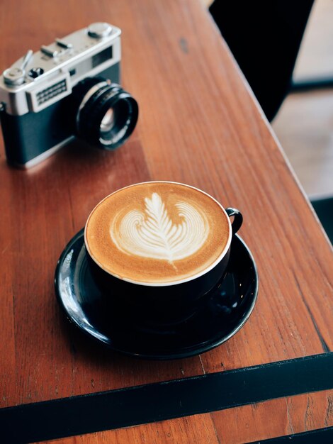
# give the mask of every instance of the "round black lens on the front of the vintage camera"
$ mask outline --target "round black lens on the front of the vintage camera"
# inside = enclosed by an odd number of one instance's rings
[[[89,77],[73,89],[77,135],[92,145],[114,150],[132,134],[137,101],[120,85]]]

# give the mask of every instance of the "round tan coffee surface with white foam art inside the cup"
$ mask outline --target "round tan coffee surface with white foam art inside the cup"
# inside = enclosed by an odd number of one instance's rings
[[[215,199],[174,182],[114,192],[91,212],[86,248],[120,279],[142,284],[188,280],[208,270],[230,242],[230,222]]]

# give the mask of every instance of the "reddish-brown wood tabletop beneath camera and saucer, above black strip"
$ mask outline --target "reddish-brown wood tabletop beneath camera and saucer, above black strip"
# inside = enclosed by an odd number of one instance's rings
[[[0,70],[94,21],[123,30],[122,83],[140,105],[139,123],[116,152],[77,141],[26,172],[6,165],[1,141],[0,406],[332,350],[332,249],[198,1],[3,0]],[[239,208],[239,234],[259,270],[258,302],[242,331],[185,360],[138,361],[94,348],[67,326],[55,300],[57,259],[91,209],[149,179],[191,184]]]

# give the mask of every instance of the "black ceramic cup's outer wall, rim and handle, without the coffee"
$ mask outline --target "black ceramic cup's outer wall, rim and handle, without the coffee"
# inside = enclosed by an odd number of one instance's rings
[[[198,191],[201,192],[201,190]],[[171,326],[174,323],[185,321],[200,309],[209,296],[210,290],[224,277],[230,256],[232,235],[242,226],[243,220],[242,213],[237,209],[224,209],[212,196],[209,197],[220,206],[227,216],[229,227],[227,243],[222,254],[210,267],[179,282],[142,283],[130,281],[130,279],[120,279],[111,274],[91,255],[85,228],[86,257],[94,281],[103,295],[101,309],[104,311],[104,316],[112,313],[113,316],[123,319],[124,322],[154,327]],[[232,217],[233,221],[231,222],[230,218]]]

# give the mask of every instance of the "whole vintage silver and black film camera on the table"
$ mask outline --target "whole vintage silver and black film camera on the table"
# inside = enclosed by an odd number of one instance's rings
[[[79,118],[91,98],[98,99],[98,110],[91,111],[89,105],[89,112],[99,113],[100,121],[113,113],[115,103],[124,100],[127,105],[125,108],[122,105],[122,109],[130,116],[130,120],[122,121],[127,124],[122,137],[114,138],[114,128],[110,135],[112,125],[109,122],[110,134],[103,126],[103,134],[108,134],[107,143],[103,144],[103,138],[96,135],[93,138],[96,145],[113,149],[123,143],[124,135],[128,137],[132,133],[137,121],[137,103],[118,85],[120,33],[119,28],[108,23],[93,23],[42,46],[35,53],[29,51],[26,57],[4,71],[0,78],[0,119],[9,163],[32,167],[75,136],[80,137]],[[101,94],[103,91],[107,94]],[[86,122],[89,125],[89,116]],[[96,125],[99,134],[100,123]],[[86,126],[87,123],[82,124],[81,130],[86,131]],[[89,142],[94,143],[94,140]],[[111,143],[114,141],[116,143]]]

